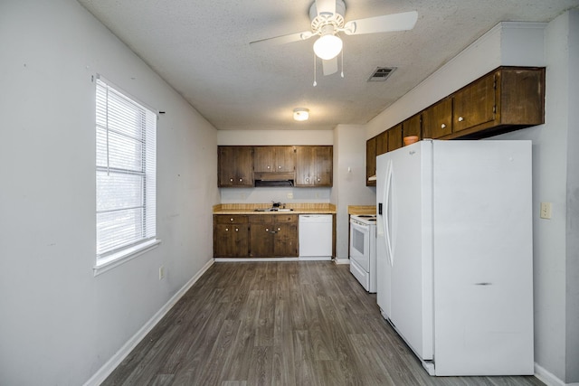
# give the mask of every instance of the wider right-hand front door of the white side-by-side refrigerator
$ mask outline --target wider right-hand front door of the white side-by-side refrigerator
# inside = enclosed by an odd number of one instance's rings
[[[421,141],[391,153],[384,215],[392,250],[390,320],[422,360],[433,354],[431,149],[431,141]]]

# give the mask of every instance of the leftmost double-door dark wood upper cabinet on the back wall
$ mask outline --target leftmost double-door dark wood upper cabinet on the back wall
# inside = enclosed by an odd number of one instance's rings
[[[253,147],[218,146],[218,186],[253,186]]]

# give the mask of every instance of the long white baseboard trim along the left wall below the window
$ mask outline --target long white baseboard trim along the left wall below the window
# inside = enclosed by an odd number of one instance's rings
[[[193,278],[191,278],[185,286],[181,287],[176,294],[171,297],[164,306],[162,306],[153,317],[151,317],[145,325],[143,325],[136,334],[134,334],[126,344],[119,349],[117,353],[115,353],[109,361],[100,367],[98,372],[95,372],[89,379],[84,383],[84,386],[99,386],[100,383],[105,381],[107,377],[119,366],[120,362],[127,357],[127,355],[140,343],[140,341],[145,338],[145,336],[159,323],[159,321],[166,315],[167,312],[173,306],[176,305],[176,302],[185,295],[185,293],[189,290],[189,288],[193,287],[195,282],[201,278],[201,276],[205,273],[207,269],[209,269],[214,264],[214,259],[210,259],[199,272],[195,274]]]

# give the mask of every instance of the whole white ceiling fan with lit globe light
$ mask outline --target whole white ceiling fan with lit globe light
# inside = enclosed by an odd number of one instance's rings
[[[268,39],[250,42],[252,46],[270,46],[299,42],[318,35],[314,42],[314,52],[322,60],[324,75],[337,72],[337,55],[342,51],[342,40],[339,33],[361,35],[364,33],[389,33],[407,31],[414,28],[418,13],[416,11],[402,14],[383,14],[365,19],[344,20],[346,4],[343,0],[315,0],[309,8],[311,31],[289,33]]]

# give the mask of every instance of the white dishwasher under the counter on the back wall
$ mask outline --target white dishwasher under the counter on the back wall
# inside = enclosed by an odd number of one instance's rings
[[[299,259],[332,259],[332,215],[299,215]]]

